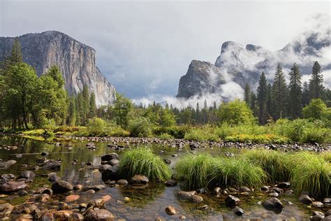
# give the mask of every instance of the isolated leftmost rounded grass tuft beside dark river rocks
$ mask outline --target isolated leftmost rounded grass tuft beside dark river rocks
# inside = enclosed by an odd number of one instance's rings
[[[170,168],[149,148],[135,148],[124,152],[119,163],[119,173],[124,178],[142,174],[151,181],[165,181],[171,177]]]

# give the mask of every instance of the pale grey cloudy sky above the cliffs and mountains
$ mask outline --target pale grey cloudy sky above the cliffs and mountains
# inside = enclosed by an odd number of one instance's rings
[[[192,59],[214,63],[224,41],[279,50],[330,15],[330,1],[0,0],[0,36],[61,31],[96,49],[115,88],[133,99],[175,95]]]

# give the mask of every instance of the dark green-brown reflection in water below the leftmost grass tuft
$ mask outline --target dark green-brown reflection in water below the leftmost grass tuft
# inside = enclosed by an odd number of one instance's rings
[[[119,193],[122,197],[128,197],[131,200],[128,202],[129,206],[144,208],[149,202],[158,199],[165,190],[163,183],[149,183],[146,187],[139,186],[131,187],[131,185],[119,187]]]

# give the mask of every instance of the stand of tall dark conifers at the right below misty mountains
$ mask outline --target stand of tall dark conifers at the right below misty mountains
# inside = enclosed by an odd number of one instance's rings
[[[247,83],[244,88],[244,101],[258,117],[260,124],[266,124],[279,118],[297,119],[302,117],[302,108],[313,99],[322,99],[331,105],[331,92],[323,86],[321,65],[314,62],[309,83],[302,84],[299,66],[293,64],[288,73],[289,83],[286,84],[285,73],[278,64],[272,84],[267,83],[262,72],[256,94]]]

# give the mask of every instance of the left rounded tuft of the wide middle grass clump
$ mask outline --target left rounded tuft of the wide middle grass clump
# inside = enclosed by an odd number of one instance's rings
[[[210,155],[185,155],[176,164],[176,177],[185,180],[189,190],[206,187],[212,164],[214,164],[214,158]]]

